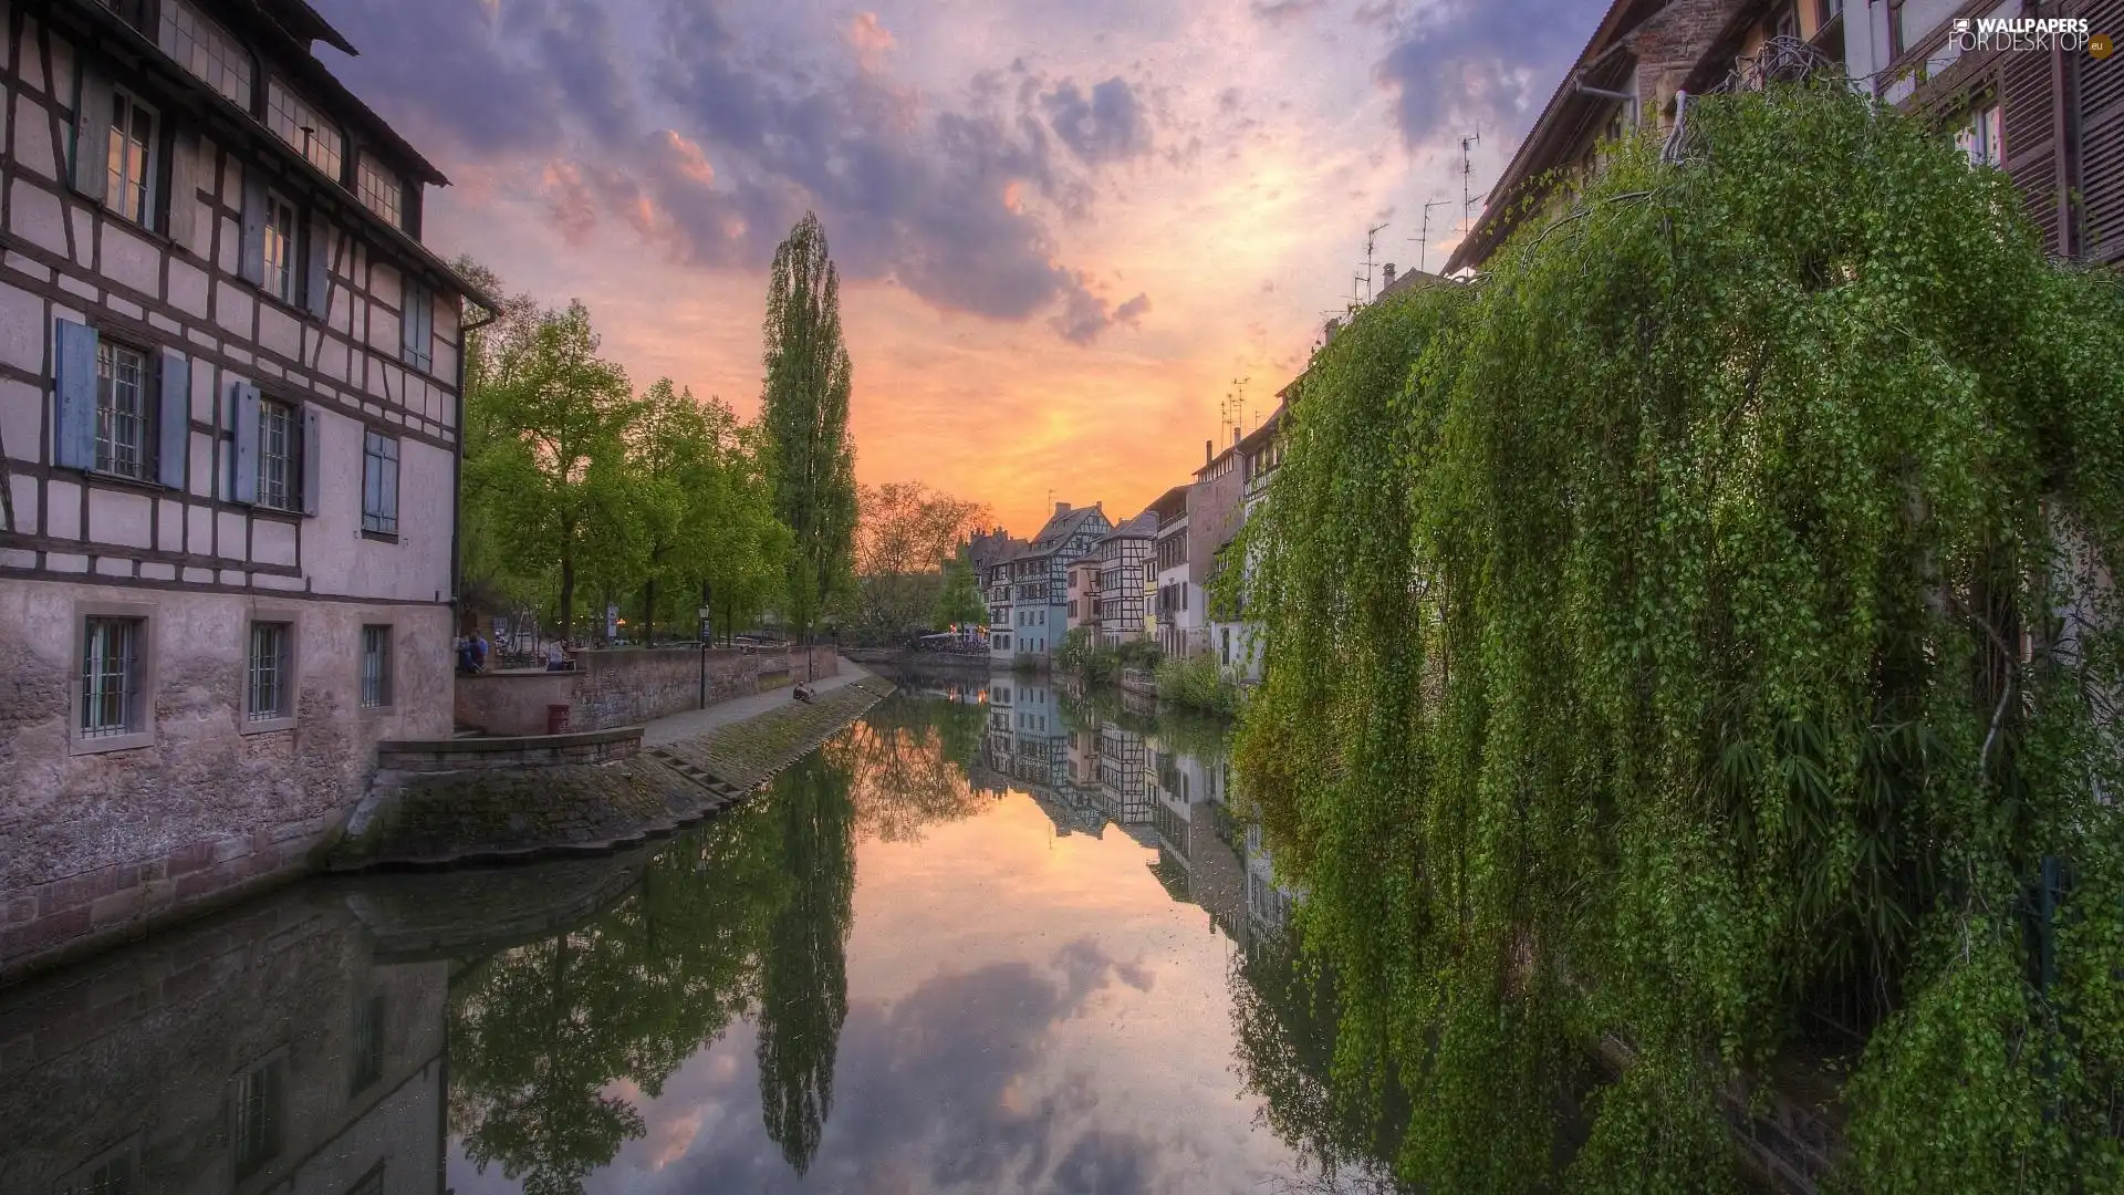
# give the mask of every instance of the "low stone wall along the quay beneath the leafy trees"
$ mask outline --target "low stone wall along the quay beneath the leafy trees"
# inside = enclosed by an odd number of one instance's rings
[[[705,653],[707,704],[805,678],[803,649]],[[576,653],[573,672],[489,672],[457,678],[457,721],[484,734],[546,734],[546,706],[567,704],[569,729],[641,725],[701,708],[703,653],[624,649]],[[809,676],[835,676],[830,646],[811,649]]]

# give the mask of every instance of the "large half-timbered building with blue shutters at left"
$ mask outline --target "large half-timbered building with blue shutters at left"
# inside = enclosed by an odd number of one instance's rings
[[[8,970],[304,870],[450,734],[467,287],[302,0],[0,28]]]

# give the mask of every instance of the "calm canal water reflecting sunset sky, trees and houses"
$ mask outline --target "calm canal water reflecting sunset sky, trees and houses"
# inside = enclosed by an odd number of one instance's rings
[[[1378,1189],[1226,727],[901,680],[690,834],[0,993],[0,1193]]]

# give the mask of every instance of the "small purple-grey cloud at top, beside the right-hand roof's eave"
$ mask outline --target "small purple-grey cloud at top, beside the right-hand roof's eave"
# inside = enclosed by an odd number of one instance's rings
[[[1419,11],[1398,30],[1374,79],[1395,91],[1393,117],[1406,145],[1442,136],[1495,132],[1517,140],[1557,77],[1578,55],[1599,15],[1591,0],[1446,0]]]

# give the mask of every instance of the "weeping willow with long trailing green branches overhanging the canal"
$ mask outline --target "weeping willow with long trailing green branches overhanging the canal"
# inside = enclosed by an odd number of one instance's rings
[[[1842,89],[1689,123],[1291,404],[1236,761],[1336,1082],[1432,1191],[1718,1191],[1833,1021],[1848,1186],[2116,1191],[2124,302]]]

